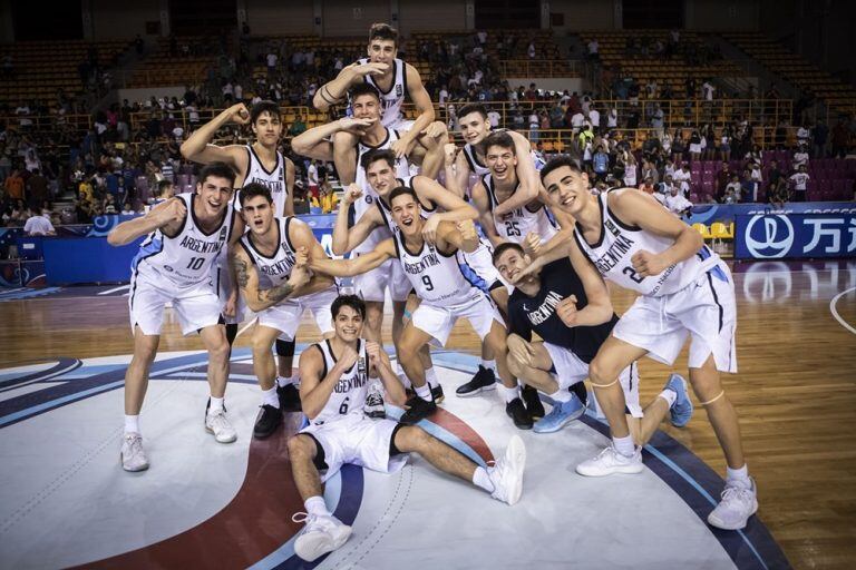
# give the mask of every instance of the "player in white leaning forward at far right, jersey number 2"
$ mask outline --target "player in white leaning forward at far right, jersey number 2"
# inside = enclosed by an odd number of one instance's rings
[[[737,530],[758,509],[740,428],[720,373],[737,372],[735,286],[728,266],[711,253],[698,232],[635,189],[593,196],[577,160],[558,157],[541,171],[555,208],[576,220],[574,268],[584,255],[601,275],[640,293],[601,346],[588,367],[590,380],[612,431],[612,445],[577,465],[583,475],[642,471],[624,415],[622,370],[644,355],[672,364],[689,336],[690,383],[708,412],[726,455],[728,473],[722,501],[708,517],[713,527]],[[576,253],[578,249],[578,254]],[[542,263],[547,261],[543,258]],[[566,321],[567,323],[567,321]]]

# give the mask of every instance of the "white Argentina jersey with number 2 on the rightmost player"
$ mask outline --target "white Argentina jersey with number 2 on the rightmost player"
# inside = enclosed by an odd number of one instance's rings
[[[640,276],[631,263],[633,255],[643,249],[659,254],[671,247],[674,240],[621,222],[610,210],[610,194],[603,193],[597,197],[602,228],[596,244],[588,244],[578,228],[574,228],[574,239],[580,249],[597,267],[604,279],[642,295],[659,297],[681,291],[720,262],[717,254],[708,246],[702,246],[694,256],[667,267],[660,275]]]

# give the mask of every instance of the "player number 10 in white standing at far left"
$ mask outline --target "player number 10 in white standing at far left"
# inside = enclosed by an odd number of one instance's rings
[[[195,193],[171,198],[145,216],[119,224],[107,236],[110,245],[120,246],[148,234],[132,263],[128,305],[134,357],[125,374],[125,435],[120,454],[126,471],[148,469],[139,411],[148,387],[148,371],[157,355],[167,303],[173,304],[182,333],[198,332],[208,351],[211,397],[205,429],[221,443],[237,438],[223,406],[228,342],[212,276],[217,255],[243,229],[231,205],[235,173],[228,165],[207,165],[200,171]]]

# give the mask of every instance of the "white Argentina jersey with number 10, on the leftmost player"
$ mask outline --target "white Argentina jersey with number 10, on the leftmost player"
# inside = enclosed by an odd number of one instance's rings
[[[140,244],[139,252],[130,264],[132,272],[146,274],[154,279],[164,279],[164,286],[187,287],[205,281],[211,283],[212,266],[221,249],[228,246],[235,210],[226,205],[223,220],[210,234],[203,232],[193,212],[196,193],[179,194],[187,208],[182,227],[175,237],[155,229]]]

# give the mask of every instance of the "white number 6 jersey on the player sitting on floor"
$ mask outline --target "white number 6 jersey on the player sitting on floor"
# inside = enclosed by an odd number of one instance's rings
[[[362,406],[366,404],[369,392],[369,355],[366,354],[366,341],[360,338],[358,342],[357,362],[350,370],[342,373],[321,413],[312,420],[314,425],[334,422],[349,414],[362,415]],[[333,356],[329,340],[321,341],[315,346],[324,356],[324,370],[321,373],[321,380],[323,380],[335,366],[337,358]]]

